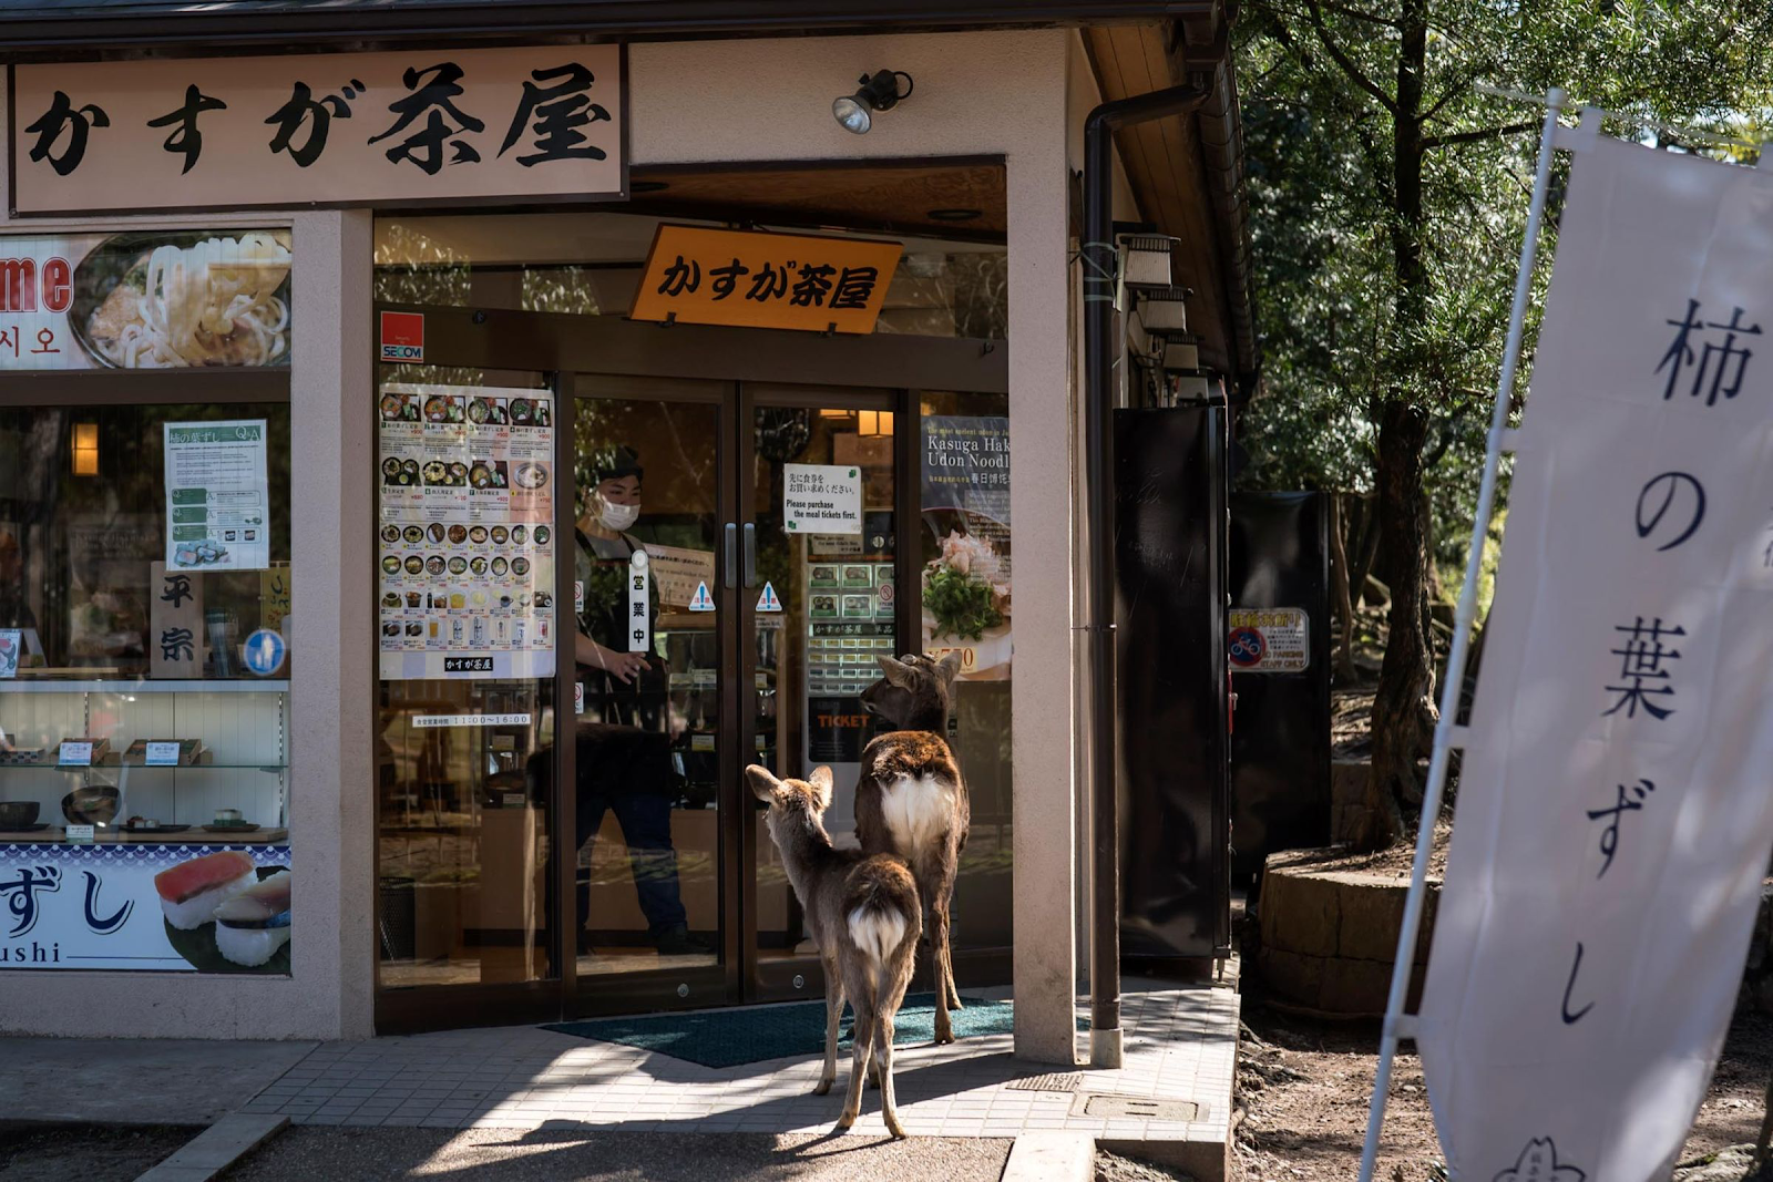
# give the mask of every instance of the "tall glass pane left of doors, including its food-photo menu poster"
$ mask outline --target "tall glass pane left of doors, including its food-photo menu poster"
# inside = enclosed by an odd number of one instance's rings
[[[558,411],[534,372],[381,376],[381,984],[543,978]]]

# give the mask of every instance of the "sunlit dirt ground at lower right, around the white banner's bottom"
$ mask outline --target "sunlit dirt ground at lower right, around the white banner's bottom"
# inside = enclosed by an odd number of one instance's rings
[[[1238,1166],[1243,1182],[1347,1182],[1360,1164],[1367,1099],[1378,1063],[1378,1026],[1323,1024],[1245,1003],[1238,1063]],[[1686,1141],[1683,1159],[1753,1141],[1773,1072],[1773,1017],[1743,1010]],[[1378,1178],[1445,1182],[1422,1067],[1399,1054],[1379,1143]]]

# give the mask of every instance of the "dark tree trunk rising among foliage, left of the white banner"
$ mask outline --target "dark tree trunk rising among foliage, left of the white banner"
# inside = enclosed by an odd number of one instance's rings
[[[1399,19],[1397,106],[1394,110],[1395,211],[1390,227],[1397,280],[1397,331],[1404,340],[1422,323],[1429,273],[1422,255],[1422,76],[1427,58],[1427,0],[1404,0]],[[1406,346],[1408,347],[1408,346]],[[1379,578],[1392,592],[1390,636],[1372,702],[1372,778],[1362,849],[1383,849],[1402,833],[1399,797],[1422,799],[1417,757],[1434,727],[1434,665],[1427,626],[1427,512],[1422,448],[1429,409],[1420,392],[1392,390],[1379,408],[1378,516],[1383,537]]]

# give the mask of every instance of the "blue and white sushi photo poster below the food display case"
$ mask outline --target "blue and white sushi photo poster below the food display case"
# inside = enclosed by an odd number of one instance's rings
[[[289,845],[0,845],[0,973],[289,973]]]

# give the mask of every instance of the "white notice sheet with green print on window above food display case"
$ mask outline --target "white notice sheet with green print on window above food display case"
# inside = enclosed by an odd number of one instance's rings
[[[167,565],[262,571],[271,565],[264,420],[167,424]]]

